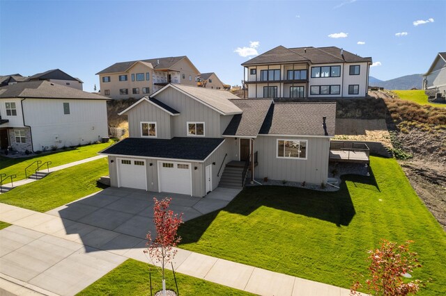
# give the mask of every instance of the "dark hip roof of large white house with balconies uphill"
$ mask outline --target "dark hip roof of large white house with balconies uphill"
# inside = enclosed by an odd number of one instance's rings
[[[342,53],[342,54],[341,54]],[[295,47],[282,45],[243,63],[243,66],[277,63],[371,63],[371,58],[362,58],[339,47]]]

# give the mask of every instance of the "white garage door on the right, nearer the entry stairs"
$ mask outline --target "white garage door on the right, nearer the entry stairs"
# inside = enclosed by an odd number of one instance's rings
[[[159,161],[158,172],[160,191],[192,195],[192,179],[190,171],[190,163]]]

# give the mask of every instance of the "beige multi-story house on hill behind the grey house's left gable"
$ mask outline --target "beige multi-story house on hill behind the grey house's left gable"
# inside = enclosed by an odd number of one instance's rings
[[[96,73],[100,93],[112,99],[140,99],[169,83],[196,86],[199,74],[187,56],[115,63]]]

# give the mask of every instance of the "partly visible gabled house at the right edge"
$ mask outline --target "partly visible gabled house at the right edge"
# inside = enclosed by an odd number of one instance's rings
[[[440,52],[426,74],[423,74],[423,89],[436,90],[446,97],[446,52]]]

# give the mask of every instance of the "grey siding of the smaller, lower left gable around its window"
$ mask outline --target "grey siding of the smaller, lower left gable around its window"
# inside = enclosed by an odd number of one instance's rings
[[[171,115],[166,111],[142,101],[136,108],[128,110],[128,132],[130,138],[141,137],[141,122],[156,122],[156,138],[171,138]]]

